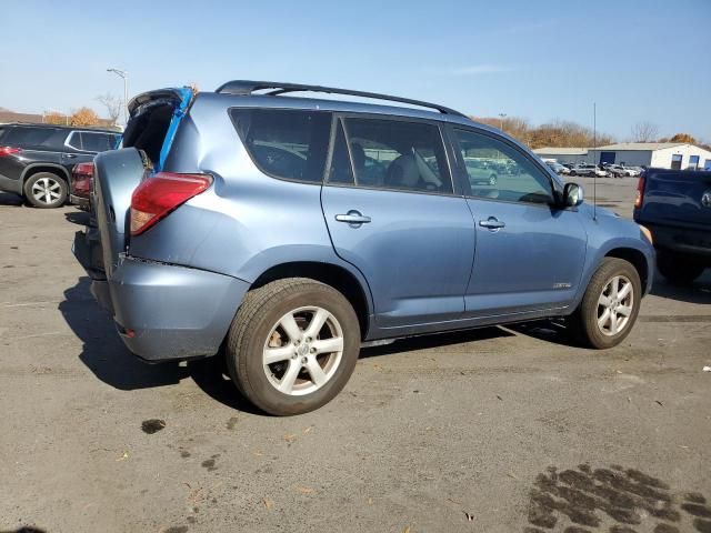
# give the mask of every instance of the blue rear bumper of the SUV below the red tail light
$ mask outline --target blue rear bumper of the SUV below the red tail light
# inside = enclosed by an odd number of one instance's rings
[[[110,280],[92,278],[91,293],[112,314],[123,343],[150,362],[214,355],[249,289],[229,275],[126,255]]]

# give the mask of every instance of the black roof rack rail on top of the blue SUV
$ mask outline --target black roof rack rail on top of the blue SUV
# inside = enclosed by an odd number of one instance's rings
[[[254,91],[261,91],[264,89],[273,89],[266,94],[276,97],[278,94],[284,94],[287,92],[326,92],[329,94],[348,94],[350,97],[372,98],[375,100],[389,100],[392,102],[408,103],[410,105],[418,105],[420,108],[435,109],[443,114],[454,114],[458,117],[467,117],[464,113],[460,113],[444,105],[438,103],[423,102],[421,100],[413,100],[411,98],[391,97],[389,94],[380,94],[377,92],[365,91],[352,91],[350,89],[337,89],[334,87],[322,86],[308,86],[301,83],[282,83],[279,81],[250,81],[250,80],[233,80],[223,83],[218,87],[214,92],[223,94],[236,94],[241,97],[249,97]]]

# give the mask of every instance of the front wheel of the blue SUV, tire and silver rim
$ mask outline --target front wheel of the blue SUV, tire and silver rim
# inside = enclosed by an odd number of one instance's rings
[[[617,346],[632,330],[641,298],[642,283],[634,266],[622,259],[604,258],[569,325],[584,345],[599,350]]]

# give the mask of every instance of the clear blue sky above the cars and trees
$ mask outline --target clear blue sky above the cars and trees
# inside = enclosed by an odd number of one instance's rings
[[[711,141],[711,0],[2,2],[0,107],[41,112],[229,79],[432,100],[468,114],[639,121]]]

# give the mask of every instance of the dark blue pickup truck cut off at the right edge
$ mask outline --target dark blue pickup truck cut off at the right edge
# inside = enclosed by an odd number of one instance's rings
[[[661,274],[693,282],[711,266],[711,172],[648,169],[637,187],[634,221],[651,231]]]

